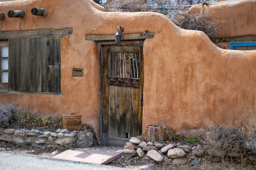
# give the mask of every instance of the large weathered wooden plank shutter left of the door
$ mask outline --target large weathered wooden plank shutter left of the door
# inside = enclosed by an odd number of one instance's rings
[[[10,39],[9,91],[60,92],[60,48],[59,37]]]

